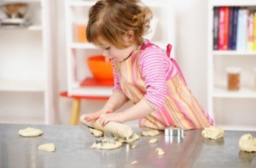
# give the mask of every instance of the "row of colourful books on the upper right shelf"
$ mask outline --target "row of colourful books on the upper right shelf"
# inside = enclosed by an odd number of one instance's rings
[[[213,8],[213,50],[256,51],[256,9]]]

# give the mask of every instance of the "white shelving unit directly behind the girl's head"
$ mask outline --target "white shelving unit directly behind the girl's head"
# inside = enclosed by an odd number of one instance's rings
[[[75,26],[77,21],[86,24],[90,7],[96,1],[66,0],[66,28],[67,28],[67,92],[69,96],[109,96],[112,87],[80,87],[85,77],[91,76],[86,58],[90,55],[101,54],[101,50],[90,43],[76,42]],[[174,30],[172,23],[172,5],[170,1],[143,0],[153,10],[158,20],[152,42],[166,49],[167,43],[174,45]],[[173,53],[173,52],[172,52]]]

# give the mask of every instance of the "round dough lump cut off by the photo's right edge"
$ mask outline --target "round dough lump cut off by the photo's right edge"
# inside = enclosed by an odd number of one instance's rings
[[[251,134],[244,134],[240,137],[238,146],[245,152],[256,152],[256,138]]]

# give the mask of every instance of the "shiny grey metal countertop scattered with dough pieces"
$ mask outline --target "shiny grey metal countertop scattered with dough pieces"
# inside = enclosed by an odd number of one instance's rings
[[[20,137],[26,127],[43,130],[40,137]],[[142,129],[133,128],[140,134]],[[86,126],[0,124],[0,168],[22,167],[256,167],[256,153],[241,152],[241,135],[256,132],[225,132],[224,138],[208,140],[201,130],[186,131],[183,141],[167,139],[161,132],[159,142],[141,137],[130,148],[125,144],[113,150],[91,149],[94,137]],[[38,150],[43,143],[55,143],[55,152]],[[158,156],[155,148],[166,154]],[[131,162],[137,160],[137,164]]]

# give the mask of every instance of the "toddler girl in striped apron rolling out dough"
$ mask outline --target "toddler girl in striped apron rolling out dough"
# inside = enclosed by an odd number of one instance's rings
[[[151,18],[151,10],[139,0],[100,0],[90,8],[86,36],[112,61],[114,87],[104,107],[82,119],[99,119],[103,126],[139,119],[139,126],[159,130],[211,126],[174,59],[143,39]],[[113,113],[128,100],[131,108]]]

